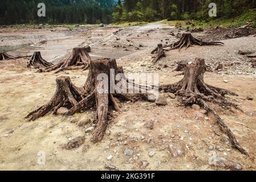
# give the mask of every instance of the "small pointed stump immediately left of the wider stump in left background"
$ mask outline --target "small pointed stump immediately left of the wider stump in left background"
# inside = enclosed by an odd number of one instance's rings
[[[41,56],[40,52],[34,52],[34,54],[31,56],[29,63],[27,63],[28,68],[47,68],[53,65],[52,63],[48,63],[46,60],[44,60]]]

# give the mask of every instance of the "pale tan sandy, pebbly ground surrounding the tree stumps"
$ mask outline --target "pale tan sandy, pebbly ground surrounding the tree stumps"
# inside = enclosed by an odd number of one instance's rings
[[[52,60],[64,55],[72,47],[91,45],[90,55],[94,59],[116,58],[117,64],[124,67],[126,74],[159,73],[160,84],[173,83],[182,78],[172,72],[179,60],[189,61],[200,56],[212,68],[220,62],[224,63],[223,71],[206,72],[205,82],[239,94],[238,97],[227,99],[237,103],[243,113],[212,106],[250,156],[242,155],[223,142],[225,135],[218,130],[212,115],[205,115],[202,109],[180,107],[178,98],[168,98],[166,106],[156,106],[151,102],[123,103],[120,113],[112,113],[107,129],[110,134],[96,144],[91,142],[91,133],[85,134],[84,127],[71,122],[74,119],[93,120],[94,110],[68,118],[49,114],[34,122],[27,122],[24,117],[30,111],[50,100],[55,91],[56,77],[70,76],[75,85],[82,86],[88,71],[67,71],[55,75],[35,73],[26,68],[27,60],[10,60],[0,63],[0,169],[103,170],[105,163],[108,163],[120,170],[226,170],[209,163],[214,152],[216,156],[235,160],[242,170],[255,170],[256,70],[251,68],[249,59],[239,56],[237,52],[241,48],[255,50],[256,38],[249,36],[224,40],[223,47],[196,46],[181,52],[169,51],[165,58],[153,65],[150,54],[152,48],[161,40],[169,43],[176,40],[168,35],[173,30],[173,27],[158,22],[143,27],[93,27],[79,31],[77,35],[65,33],[62,36],[60,34],[63,32],[60,31],[56,39],[47,39],[44,44],[35,43],[37,46],[22,48],[10,54],[29,54],[40,50],[43,57]],[[39,34],[44,34],[43,31],[39,31]],[[12,36],[15,38],[21,32],[10,34],[14,34]],[[52,36],[56,32],[49,34]],[[25,36],[28,35],[26,32]],[[2,33],[0,37],[3,37]],[[34,38],[30,40],[33,42]],[[6,41],[5,46],[8,42],[11,40]],[[139,47],[139,44],[143,47]],[[164,64],[168,67],[162,68]],[[246,100],[249,95],[254,97],[253,101]],[[155,121],[153,129],[145,128],[144,123],[152,120]],[[91,125],[89,123],[86,127]],[[63,149],[63,144],[83,135],[86,136],[86,142],[82,146],[74,150]],[[217,150],[217,146],[223,151]],[[125,148],[133,150],[133,154],[125,155]],[[38,163],[39,151],[46,155],[44,165]],[[152,157],[148,155],[151,151],[156,153]],[[107,159],[109,155],[113,156],[111,160]],[[148,166],[141,168],[142,161],[147,161]]]

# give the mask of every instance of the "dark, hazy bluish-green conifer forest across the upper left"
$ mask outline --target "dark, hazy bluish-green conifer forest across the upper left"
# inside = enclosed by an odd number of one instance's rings
[[[39,17],[38,3],[46,17]],[[1,0],[0,24],[111,23],[114,0]]]

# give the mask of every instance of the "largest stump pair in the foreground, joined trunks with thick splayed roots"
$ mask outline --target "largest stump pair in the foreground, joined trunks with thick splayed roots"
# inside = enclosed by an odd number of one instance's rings
[[[32,111],[26,118],[29,121],[34,121],[50,111],[55,114],[60,107],[68,109],[66,115],[73,115],[82,110],[96,107],[97,127],[92,141],[100,141],[103,139],[107,127],[109,109],[112,107],[116,111],[119,110],[120,105],[116,102],[115,97],[120,100],[136,101],[152,96],[149,92],[143,92],[146,91],[144,86],[136,85],[122,74],[119,75],[120,80],[116,81],[115,77],[117,78],[119,73],[123,73],[123,68],[117,67],[115,59],[92,60],[87,81],[82,88],[72,84],[69,77],[56,78],[57,86],[54,96],[46,105]],[[117,85],[118,83],[122,83],[122,88]],[[140,93],[127,94],[129,86],[139,88]],[[125,93],[120,92],[120,89],[125,90]]]

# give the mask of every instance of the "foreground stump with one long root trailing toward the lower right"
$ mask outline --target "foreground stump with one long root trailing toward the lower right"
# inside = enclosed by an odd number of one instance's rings
[[[185,68],[184,78],[182,78],[182,80],[170,85],[161,85],[160,90],[172,92],[175,93],[176,96],[182,97],[181,104],[185,106],[199,104],[204,107],[205,110],[209,111],[214,115],[214,117],[216,117],[216,121],[222,131],[229,136],[232,146],[237,148],[242,152],[242,154],[248,155],[245,149],[238,144],[234,134],[218,116],[217,112],[206,104],[206,102],[213,102],[221,105],[222,107],[230,108],[231,106],[234,106],[237,108],[237,105],[227,101],[225,98],[225,94],[233,96],[237,96],[237,94],[230,92],[229,90],[205,84],[205,67],[205,60],[196,58],[194,63],[188,64]]]

